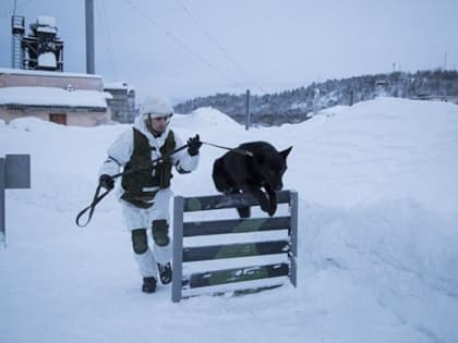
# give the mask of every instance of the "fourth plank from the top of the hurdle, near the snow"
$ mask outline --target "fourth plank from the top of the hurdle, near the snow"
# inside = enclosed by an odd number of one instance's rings
[[[194,273],[189,279],[184,279],[182,284],[183,289],[206,287],[217,284],[285,277],[288,273],[288,264],[253,266]]]

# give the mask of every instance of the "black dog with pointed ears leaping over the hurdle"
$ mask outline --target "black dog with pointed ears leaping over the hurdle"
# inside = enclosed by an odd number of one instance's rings
[[[289,147],[278,151],[266,142],[240,145],[215,161],[213,181],[216,189],[225,194],[250,194],[260,201],[263,211],[273,216],[277,210],[275,191],[284,186],[281,177],[291,149]],[[241,218],[250,217],[250,207],[240,207],[237,210]]]

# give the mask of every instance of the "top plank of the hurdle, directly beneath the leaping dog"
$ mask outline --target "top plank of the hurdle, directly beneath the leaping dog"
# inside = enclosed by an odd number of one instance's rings
[[[289,204],[290,192],[277,192],[278,204]],[[184,198],[184,211],[205,211],[213,209],[225,209],[245,206],[258,206],[260,203],[248,194],[212,195]]]

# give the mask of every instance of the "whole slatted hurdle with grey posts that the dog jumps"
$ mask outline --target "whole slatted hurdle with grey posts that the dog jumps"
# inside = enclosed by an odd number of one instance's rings
[[[289,216],[183,222],[184,212],[256,206],[258,203],[246,195],[174,197],[172,302],[180,302],[183,297],[200,293],[253,292],[281,285],[288,278],[296,286],[298,193],[278,192],[277,200],[278,204],[289,205]],[[213,244],[218,237],[221,237],[221,234],[230,233],[240,236],[239,234],[248,232],[280,230],[288,230],[287,238],[267,242]],[[183,246],[183,237],[197,236],[204,237],[206,245]],[[209,245],[207,244],[208,241],[212,242]],[[233,261],[234,258],[254,256],[260,257],[262,261],[256,265],[228,268],[231,265],[229,261]],[[191,265],[219,259],[219,265],[226,265],[226,267],[218,267],[218,269],[208,267],[208,270],[205,271],[183,274],[183,264]],[[282,259],[282,261],[273,261],[273,259]]]

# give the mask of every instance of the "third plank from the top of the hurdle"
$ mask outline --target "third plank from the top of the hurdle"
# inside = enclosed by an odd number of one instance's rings
[[[210,245],[183,248],[183,262],[246,257],[257,255],[282,254],[289,252],[288,241]]]

